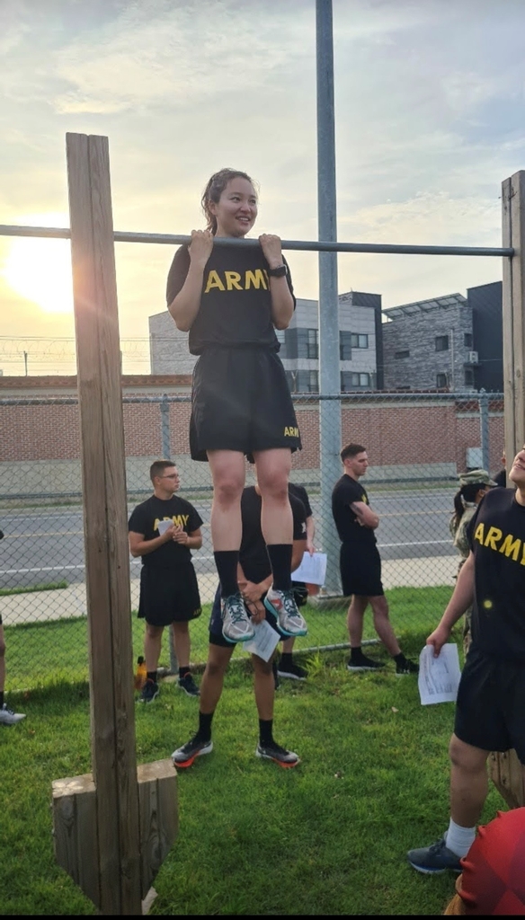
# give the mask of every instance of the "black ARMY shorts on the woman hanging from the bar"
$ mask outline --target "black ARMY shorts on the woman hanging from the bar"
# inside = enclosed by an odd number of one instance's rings
[[[193,369],[190,449],[247,454],[300,450],[295,409],[283,364],[268,348],[208,348]]]

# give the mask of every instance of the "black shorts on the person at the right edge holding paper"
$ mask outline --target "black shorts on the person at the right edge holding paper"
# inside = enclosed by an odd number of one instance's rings
[[[515,748],[525,765],[525,662],[471,646],[461,674],[454,733],[482,751]]]

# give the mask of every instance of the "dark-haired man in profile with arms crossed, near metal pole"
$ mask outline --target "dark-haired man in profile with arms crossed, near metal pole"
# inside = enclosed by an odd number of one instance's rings
[[[345,597],[351,597],[347,626],[350,636],[348,671],[377,671],[382,662],[374,661],[361,648],[363,620],[368,604],[374,628],[395,661],[396,674],[419,671],[414,661],[404,657],[391,627],[389,605],[381,583],[381,558],[375,531],[379,516],[370,508],[367,490],[359,479],[368,468],[367,450],[361,444],[346,444],[341,451],[344,474],[332,492],[332,515],[341,540],[341,581]]]

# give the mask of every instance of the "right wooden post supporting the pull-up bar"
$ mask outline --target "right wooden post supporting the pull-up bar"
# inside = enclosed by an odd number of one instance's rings
[[[503,246],[514,256],[503,261],[503,377],[507,471],[525,443],[525,171],[502,186]],[[489,758],[494,784],[511,808],[525,805],[523,774],[515,751]]]

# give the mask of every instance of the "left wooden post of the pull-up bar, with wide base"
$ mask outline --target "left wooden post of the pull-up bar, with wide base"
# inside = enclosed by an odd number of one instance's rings
[[[176,830],[170,761],[138,777],[121,358],[108,139],[67,134],[80,410],[92,776],[53,784],[55,852],[102,914],[141,914]],[[145,769],[144,767],[142,768]],[[151,774],[151,775],[149,775]],[[140,795],[141,782],[146,791]],[[159,793],[159,784],[162,790]],[[149,802],[149,805],[143,802]],[[146,815],[163,800],[152,834]],[[167,802],[171,802],[169,809]],[[149,809],[149,811],[148,811]],[[173,813],[175,812],[175,817]],[[141,866],[141,824],[146,848]],[[157,834],[157,837],[156,837]],[[151,840],[157,839],[158,845]],[[95,867],[78,864],[96,858]],[[155,865],[152,864],[153,863]]]

